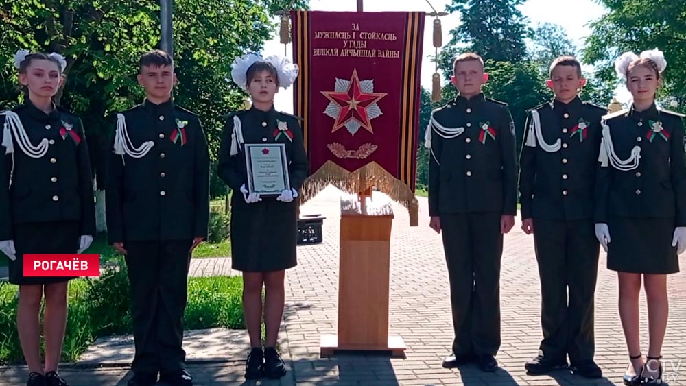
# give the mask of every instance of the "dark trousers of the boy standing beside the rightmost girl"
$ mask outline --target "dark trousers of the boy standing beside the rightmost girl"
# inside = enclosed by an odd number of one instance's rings
[[[593,221],[534,219],[541,278],[541,352],[554,360],[593,359],[598,252]]]

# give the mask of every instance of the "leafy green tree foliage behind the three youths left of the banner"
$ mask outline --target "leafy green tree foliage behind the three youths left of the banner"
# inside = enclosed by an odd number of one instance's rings
[[[270,16],[306,0],[178,0],[174,56],[180,84],[174,97],[200,116],[216,156],[222,115],[241,108],[244,94],[230,82],[230,64],[259,52],[274,25]],[[0,7],[1,108],[21,101],[12,57],[17,49],[55,51],[67,58],[61,105],[82,117],[102,186],[102,157],[113,113],[141,102],[137,61],[158,47],[159,5],[150,0],[14,0]],[[215,178],[213,193],[225,191]]]

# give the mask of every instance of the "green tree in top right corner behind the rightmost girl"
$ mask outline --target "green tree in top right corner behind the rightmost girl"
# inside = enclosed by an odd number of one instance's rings
[[[640,53],[659,47],[667,70],[659,99],[686,101],[686,2],[676,0],[599,0],[608,13],[591,23],[584,62],[595,64],[598,76],[617,82],[614,60],[625,51]],[[683,106],[681,103],[679,106]]]

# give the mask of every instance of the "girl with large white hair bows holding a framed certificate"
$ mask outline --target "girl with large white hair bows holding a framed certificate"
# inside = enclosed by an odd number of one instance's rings
[[[307,155],[298,119],[274,110],[279,86],[291,85],[298,67],[285,58],[246,55],[233,63],[234,82],[252,97],[250,110],[226,121],[218,174],[231,189],[231,250],[233,269],[243,272],[243,307],[252,350],[246,378],[281,378],[286,369],[276,352],[283,315],[285,269],[296,265],[298,189],[307,177]],[[290,188],[278,197],[248,192],[245,145],[285,145]],[[262,305],[262,287],[265,304]],[[265,350],[261,319],[265,317]]]

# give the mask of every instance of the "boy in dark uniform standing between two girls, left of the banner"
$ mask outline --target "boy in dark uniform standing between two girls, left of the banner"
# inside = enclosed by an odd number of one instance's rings
[[[107,176],[108,239],[126,254],[136,355],[129,386],[192,385],[182,319],[191,251],[207,237],[209,154],[198,117],[171,101],[171,57],[145,53],[143,104],[117,114]]]

